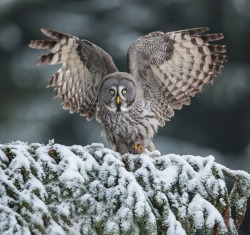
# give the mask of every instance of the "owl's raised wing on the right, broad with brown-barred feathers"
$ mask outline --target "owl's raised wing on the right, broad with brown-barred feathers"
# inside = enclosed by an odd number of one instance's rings
[[[207,27],[169,33],[153,32],[137,39],[128,50],[128,70],[141,82],[147,105],[160,125],[175,109],[212,83],[226,61],[225,45],[209,44],[221,33],[202,34]]]

